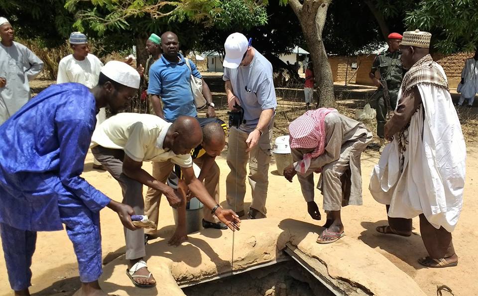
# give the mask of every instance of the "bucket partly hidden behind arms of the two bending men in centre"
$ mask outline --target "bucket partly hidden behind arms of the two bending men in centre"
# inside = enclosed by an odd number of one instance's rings
[[[193,163],[194,174],[196,177],[199,176],[201,168]],[[178,189],[179,178],[175,173],[171,173],[168,177],[167,184],[174,190]],[[203,213],[204,205],[196,197],[191,198],[191,200],[186,204],[186,232],[188,234],[200,231],[202,229],[202,220],[204,217]],[[174,223],[178,225],[178,210],[173,208],[173,217]]]

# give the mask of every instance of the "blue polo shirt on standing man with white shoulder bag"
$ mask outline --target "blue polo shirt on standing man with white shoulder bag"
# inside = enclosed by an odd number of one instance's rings
[[[189,60],[192,75],[202,78],[196,65]],[[173,122],[181,115],[198,115],[191,91],[191,71],[184,57],[178,53],[178,62],[168,61],[164,55],[149,69],[148,94],[161,97],[164,119]]]

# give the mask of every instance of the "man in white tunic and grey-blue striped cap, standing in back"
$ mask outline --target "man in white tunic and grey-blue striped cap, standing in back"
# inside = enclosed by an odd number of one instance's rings
[[[73,32],[70,34],[69,41],[73,54],[62,58],[58,64],[56,83],[76,82],[88,88],[95,87],[98,84],[103,63],[99,58],[90,53],[88,38],[85,34]],[[105,120],[106,110],[105,108],[101,108],[100,112],[96,115],[96,127]],[[93,159],[93,168],[104,170],[96,158]]]

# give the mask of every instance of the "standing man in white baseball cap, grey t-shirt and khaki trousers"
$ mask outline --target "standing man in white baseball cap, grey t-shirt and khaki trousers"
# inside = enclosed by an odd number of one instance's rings
[[[246,163],[252,202],[250,219],[265,218],[272,128],[277,106],[272,65],[241,33],[229,35],[224,44],[224,76],[229,109],[243,118],[229,134],[226,196],[229,206],[244,215]]]

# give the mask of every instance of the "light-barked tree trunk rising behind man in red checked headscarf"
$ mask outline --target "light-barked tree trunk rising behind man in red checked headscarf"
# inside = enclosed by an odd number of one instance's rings
[[[289,0],[289,4],[299,18],[304,38],[314,64],[314,76],[318,85],[319,106],[335,107],[334,79],[329,58],[322,41],[322,30],[327,18],[327,9],[332,0]]]

